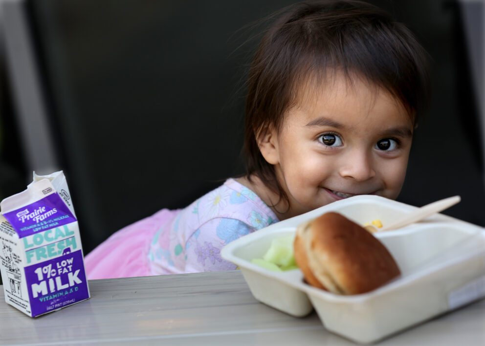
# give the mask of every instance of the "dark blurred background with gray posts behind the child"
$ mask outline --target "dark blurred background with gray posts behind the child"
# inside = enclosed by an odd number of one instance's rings
[[[292,2],[0,1],[0,199],[64,170],[86,254],[243,173],[241,81],[261,29],[246,25]],[[483,3],[370,2],[432,57],[398,200],[461,195],[445,214],[485,226]]]

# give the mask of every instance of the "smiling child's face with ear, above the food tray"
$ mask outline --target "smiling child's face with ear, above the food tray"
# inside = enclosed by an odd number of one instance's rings
[[[344,77],[287,112],[260,147],[290,200],[289,216],[353,195],[396,198],[413,123],[384,90]],[[288,216],[288,217],[289,217]]]

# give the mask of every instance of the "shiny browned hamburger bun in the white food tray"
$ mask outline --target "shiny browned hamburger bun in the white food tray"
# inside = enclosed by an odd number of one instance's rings
[[[305,280],[335,294],[369,292],[400,275],[386,247],[338,213],[326,213],[301,225],[294,253]]]

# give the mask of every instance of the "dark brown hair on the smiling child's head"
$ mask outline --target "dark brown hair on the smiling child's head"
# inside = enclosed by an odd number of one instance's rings
[[[305,1],[273,18],[248,71],[243,154],[246,177],[258,176],[289,202],[257,139],[271,128],[281,130],[302,86],[343,71],[351,82],[357,76],[387,90],[417,124],[429,96],[427,53],[404,24],[366,2]]]

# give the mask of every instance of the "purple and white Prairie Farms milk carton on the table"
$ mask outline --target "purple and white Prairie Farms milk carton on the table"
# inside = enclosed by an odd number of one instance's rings
[[[79,227],[62,171],[0,203],[5,301],[36,317],[89,298]]]

